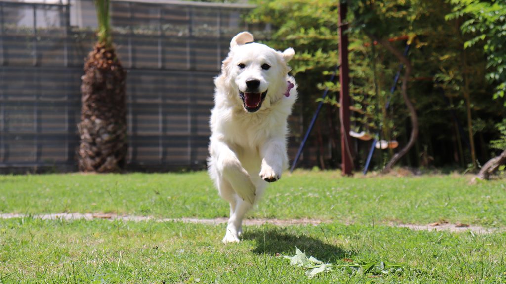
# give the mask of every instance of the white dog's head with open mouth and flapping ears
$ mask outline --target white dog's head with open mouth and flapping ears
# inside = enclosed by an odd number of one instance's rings
[[[245,111],[254,113],[280,100],[287,89],[287,63],[294,51],[275,51],[254,42],[253,35],[243,31],[230,42],[230,53],[223,61],[222,79],[228,93]]]

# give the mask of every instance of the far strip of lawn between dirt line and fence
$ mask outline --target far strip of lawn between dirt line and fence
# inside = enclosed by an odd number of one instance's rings
[[[272,183],[249,217],[370,224],[436,221],[506,226],[506,181],[468,177],[342,177],[296,171]],[[228,216],[205,172],[0,176],[0,213],[117,213],[163,218]]]

